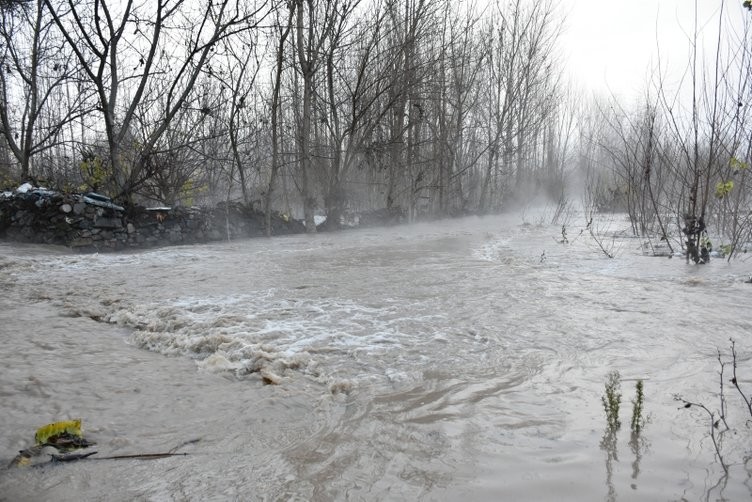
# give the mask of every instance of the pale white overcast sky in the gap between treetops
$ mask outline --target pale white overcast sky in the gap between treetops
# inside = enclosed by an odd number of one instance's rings
[[[670,78],[686,68],[694,24],[694,0],[559,0],[566,14],[562,52],[579,88],[633,99],[644,92],[658,61]],[[726,17],[737,27],[742,0],[726,0]],[[721,0],[698,0],[699,26],[717,30]],[[709,21],[709,22],[708,22]],[[703,27],[703,24],[705,25]],[[710,38],[708,36],[708,38]]]

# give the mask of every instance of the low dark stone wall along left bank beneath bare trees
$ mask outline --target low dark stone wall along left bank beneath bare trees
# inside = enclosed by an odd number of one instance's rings
[[[300,233],[299,221],[273,215],[275,235]],[[98,194],[45,189],[0,192],[0,238],[115,251],[264,235],[264,214],[242,204],[214,208],[123,208]]]

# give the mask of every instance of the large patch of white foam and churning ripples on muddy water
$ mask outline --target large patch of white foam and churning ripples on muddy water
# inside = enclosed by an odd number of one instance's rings
[[[132,329],[135,345],[192,357],[205,371],[243,376],[295,370],[325,381],[341,371],[342,358],[373,367],[374,355],[400,360],[411,346],[447,339],[446,333],[426,328],[441,314],[413,314],[396,300],[367,306],[338,298],[279,299],[278,294],[179,297],[156,308],[116,305],[105,320]]]

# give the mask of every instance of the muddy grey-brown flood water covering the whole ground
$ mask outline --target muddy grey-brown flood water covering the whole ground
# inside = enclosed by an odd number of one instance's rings
[[[752,260],[607,237],[609,259],[578,233],[507,216],[119,254],[0,243],[0,462],[72,418],[99,452],[2,469],[0,499],[750,499],[738,395],[728,476],[673,396],[718,407],[729,338],[752,391]]]

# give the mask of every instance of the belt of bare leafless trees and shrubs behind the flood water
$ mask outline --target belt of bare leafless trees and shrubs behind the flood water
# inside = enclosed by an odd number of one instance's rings
[[[309,232],[582,197],[591,233],[626,212],[656,254],[731,258],[752,241],[745,6],[697,19],[681,83],[659,68],[627,106],[567,82],[550,0],[2,2],[0,188],[236,201]]]

